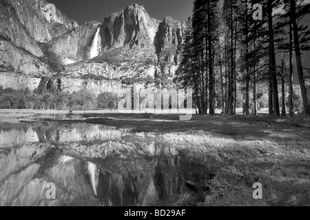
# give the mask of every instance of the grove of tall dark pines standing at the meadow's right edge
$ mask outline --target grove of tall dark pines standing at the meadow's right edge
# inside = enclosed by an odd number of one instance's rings
[[[261,11],[253,7],[256,4],[262,5]],[[258,99],[267,92],[270,115],[280,116],[282,107],[285,116],[288,105],[293,116],[298,94],[302,111],[310,115],[302,66],[302,52],[310,49],[310,30],[301,22],[309,9],[303,0],[195,0],[178,83],[194,88],[199,113],[214,114],[220,107],[234,115],[241,101],[245,115],[251,106],[256,114]],[[294,59],[299,91],[293,87]]]

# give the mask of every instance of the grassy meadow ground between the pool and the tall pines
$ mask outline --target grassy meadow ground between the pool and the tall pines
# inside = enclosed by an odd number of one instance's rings
[[[160,134],[186,161],[196,160],[183,164],[183,169],[196,169],[185,178],[198,184],[198,191],[185,190],[178,206],[310,205],[310,130],[289,120],[194,115],[189,122],[179,122],[176,115],[88,116],[89,123]],[[294,120],[309,122],[302,117]],[[203,167],[200,173],[198,167]],[[255,182],[263,186],[263,199],[252,197]]]

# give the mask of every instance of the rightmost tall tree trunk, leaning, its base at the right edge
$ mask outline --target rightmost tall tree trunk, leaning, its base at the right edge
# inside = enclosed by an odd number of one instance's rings
[[[301,60],[301,54],[300,54],[298,25],[296,21],[296,3],[294,0],[290,0],[290,3],[291,3],[291,18],[293,22],[293,36],[294,36],[294,44],[295,44],[296,65],[297,65],[297,71],[298,71],[300,90],[302,94],[302,100],[304,104],[304,113],[306,113],[306,115],[310,115],[310,105],[309,105],[309,100],[307,97],[307,87],[304,83],[304,72],[302,69],[302,60]]]

